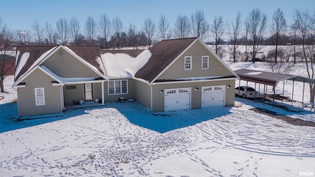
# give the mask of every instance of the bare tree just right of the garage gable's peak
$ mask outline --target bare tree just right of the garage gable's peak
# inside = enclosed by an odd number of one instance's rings
[[[219,41],[221,39],[221,36],[223,35],[225,30],[225,25],[223,21],[223,17],[220,16],[215,16],[213,19],[213,23],[210,26],[210,31],[212,33],[212,36],[215,40],[215,52],[218,55],[220,53],[220,47],[219,47]]]

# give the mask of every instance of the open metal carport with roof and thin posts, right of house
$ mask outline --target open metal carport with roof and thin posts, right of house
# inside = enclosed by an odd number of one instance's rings
[[[303,76],[297,76],[297,75],[273,73],[273,72],[259,71],[259,70],[252,70],[252,69],[239,69],[239,70],[235,70],[234,72],[240,77],[240,82],[241,80],[244,80],[247,82],[253,82],[255,83],[255,86],[256,86],[256,83],[264,84],[264,98],[263,99],[265,99],[265,95],[267,94],[265,93],[265,90],[267,91],[267,85],[273,86],[274,88],[276,88],[280,81],[284,81],[284,80],[293,81],[292,103],[291,103],[292,105],[293,105],[294,81],[303,82],[302,108],[304,108],[303,103],[304,103],[305,83],[315,84],[315,79],[307,78]],[[274,95],[275,95],[275,92],[276,92],[276,89],[274,89]],[[284,92],[284,86],[283,86],[283,92]],[[275,104],[275,96],[273,96],[273,106],[274,104]],[[314,108],[314,102],[313,102],[312,108]]]

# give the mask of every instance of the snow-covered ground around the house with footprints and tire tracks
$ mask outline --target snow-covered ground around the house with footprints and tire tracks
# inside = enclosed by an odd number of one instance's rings
[[[261,69],[258,62],[228,64],[234,70]],[[125,102],[14,122],[18,113],[12,84],[10,76],[5,80],[8,93],[0,93],[1,177],[315,174],[315,127],[292,125],[253,109],[314,122],[308,108],[287,105],[284,110],[236,97],[234,107],[151,114],[136,102]],[[294,94],[298,98],[302,93]]]

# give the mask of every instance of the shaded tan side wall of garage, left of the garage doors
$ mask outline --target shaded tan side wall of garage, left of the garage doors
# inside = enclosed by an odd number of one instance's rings
[[[137,80],[134,80],[133,83],[135,101],[151,109],[151,86]]]

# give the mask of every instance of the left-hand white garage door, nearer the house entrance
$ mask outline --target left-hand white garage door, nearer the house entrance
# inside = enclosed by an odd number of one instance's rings
[[[190,109],[190,88],[164,90],[164,111],[186,109]]]

